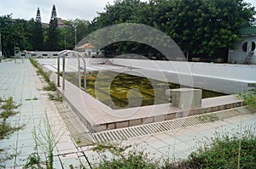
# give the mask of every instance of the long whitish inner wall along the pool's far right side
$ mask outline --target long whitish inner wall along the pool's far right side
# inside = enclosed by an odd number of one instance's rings
[[[137,75],[200,87],[220,93],[240,93],[256,87],[256,65],[209,64],[160,60],[109,59],[113,64],[139,68]],[[162,72],[160,79],[154,72]],[[129,72],[127,72],[129,73]],[[132,71],[131,74],[136,74]]]

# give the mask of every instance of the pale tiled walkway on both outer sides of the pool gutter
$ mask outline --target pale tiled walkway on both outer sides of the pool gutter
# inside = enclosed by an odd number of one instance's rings
[[[73,167],[83,165],[89,168],[85,155],[90,164],[100,161],[102,154],[93,152],[91,146],[79,147],[74,143],[73,138],[71,138],[73,131],[67,128],[67,123],[75,124],[76,127],[74,128],[79,131],[84,130],[84,133],[87,133],[86,128],[78,125],[80,124],[78,117],[72,114],[72,111],[67,108],[67,104],[56,104],[49,101],[47,92],[42,90],[43,80],[39,78],[28,59],[25,59],[24,62],[23,64],[18,59],[17,64],[15,61],[0,63],[0,97],[7,99],[12,96],[16,103],[22,104],[19,108],[20,113],[9,118],[9,121],[16,126],[26,124],[24,129],[14,132],[8,139],[0,140],[0,149],[6,149],[9,153],[15,154],[12,160],[5,161],[2,165],[5,165],[6,168],[22,168],[26,164],[26,158],[32,152],[38,152],[44,161],[42,149],[34,149],[36,144],[32,136],[32,129],[38,127],[46,115],[55,131],[63,135],[54,150],[55,168],[70,168],[70,165]],[[60,111],[58,106],[61,106],[64,111]],[[68,118],[63,120],[61,113],[67,114],[67,112]],[[173,156],[185,158],[194,149],[198,140],[212,137],[216,128],[220,127],[218,130],[227,132],[237,131],[240,130],[241,126],[255,126],[255,121],[255,114],[240,115],[224,121],[132,138],[122,141],[121,144],[131,144],[135,149],[145,149],[155,159],[167,159]],[[44,129],[44,125],[41,127]],[[111,156],[109,153],[105,155]]]

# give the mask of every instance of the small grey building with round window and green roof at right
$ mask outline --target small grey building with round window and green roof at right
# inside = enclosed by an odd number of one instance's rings
[[[247,51],[243,51],[242,45],[247,42]],[[243,37],[242,42],[236,44],[236,49],[229,51],[229,63],[232,64],[244,64],[248,53],[252,49],[252,42],[256,43],[256,36]],[[250,64],[256,64],[256,54],[253,54]]]

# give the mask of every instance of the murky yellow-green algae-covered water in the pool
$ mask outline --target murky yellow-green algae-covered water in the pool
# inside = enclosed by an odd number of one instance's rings
[[[77,72],[67,72],[66,79],[78,86]],[[81,83],[84,87],[84,76]],[[166,89],[180,88],[179,84],[109,70],[101,71],[101,76],[98,71],[87,72],[86,86],[87,93],[115,110],[169,103]],[[223,95],[225,94],[202,90],[202,99]]]

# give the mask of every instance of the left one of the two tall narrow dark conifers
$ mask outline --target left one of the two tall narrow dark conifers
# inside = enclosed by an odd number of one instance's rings
[[[34,38],[33,38],[33,50],[43,50],[44,48],[44,37],[43,37],[43,28],[41,22],[40,9],[37,10],[37,17],[34,24]]]

